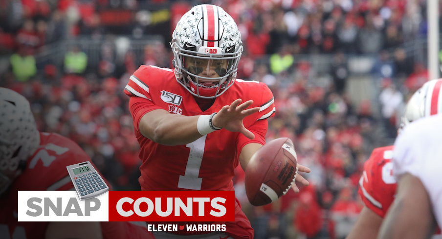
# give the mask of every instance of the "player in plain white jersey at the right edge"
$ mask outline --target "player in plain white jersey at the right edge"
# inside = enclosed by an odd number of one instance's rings
[[[435,100],[441,111],[441,97]],[[395,142],[396,199],[382,223],[379,239],[430,238],[442,225],[442,115],[417,120]]]

